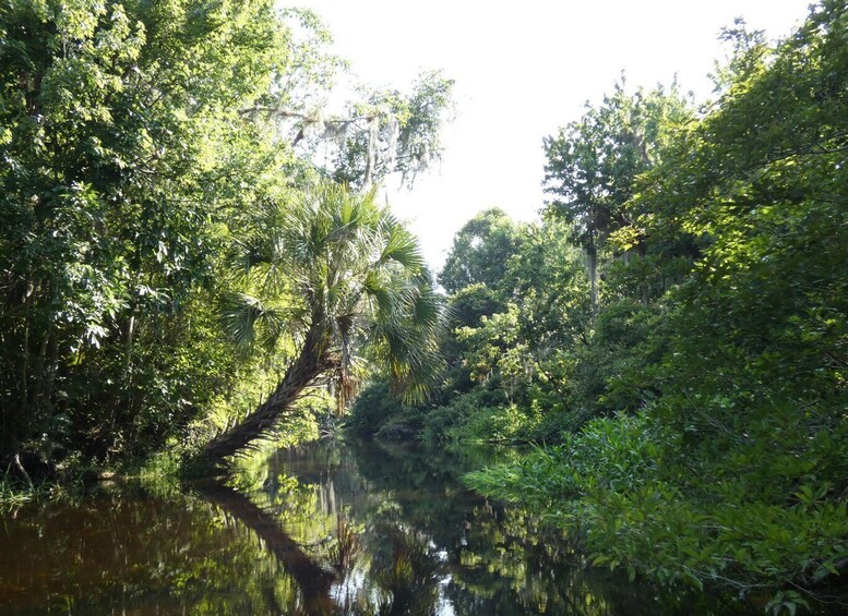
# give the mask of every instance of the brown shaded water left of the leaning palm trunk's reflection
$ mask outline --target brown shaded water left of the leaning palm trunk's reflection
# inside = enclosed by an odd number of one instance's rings
[[[13,516],[0,532],[4,614],[290,613],[279,606],[300,593],[244,524],[198,497],[121,491]]]

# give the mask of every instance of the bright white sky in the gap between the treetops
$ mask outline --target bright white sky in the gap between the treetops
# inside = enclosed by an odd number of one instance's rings
[[[724,57],[722,26],[743,16],[789,34],[810,0],[291,0],[314,10],[362,82],[407,88],[421,69],[456,81],[457,117],[440,166],[411,193],[387,189],[438,270],[454,233],[499,206],[533,220],[544,203],[544,136],[598,102],[621,74],[632,87],[674,74],[698,100]]]

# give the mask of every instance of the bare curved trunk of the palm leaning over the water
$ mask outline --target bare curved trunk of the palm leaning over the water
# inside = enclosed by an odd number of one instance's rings
[[[203,448],[202,456],[219,466],[228,456],[250,449],[251,443],[271,435],[274,426],[290,410],[303,389],[334,367],[335,362],[324,350],[325,346],[324,328],[312,326],[303,341],[300,354],[288,367],[283,381],[268,399],[241,423],[211,440]]]

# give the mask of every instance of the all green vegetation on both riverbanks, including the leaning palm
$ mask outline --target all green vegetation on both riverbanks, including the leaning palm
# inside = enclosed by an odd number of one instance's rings
[[[331,111],[309,11],[7,3],[0,503],[342,428],[530,443],[467,485],[592,564],[844,607],[848,10],[721,39],[712,102],[617,82],[544,140],[540,220],[481,212],[433,273],[374,196],[438,161],[451,80]]]

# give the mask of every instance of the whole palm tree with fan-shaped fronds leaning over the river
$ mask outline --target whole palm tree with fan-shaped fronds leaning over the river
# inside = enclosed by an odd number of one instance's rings
[[[439,367],[444,304],[417,239],[374,192],[335,183],[296,203],[265,204],[258,232],[239,250],[246,287],[232,295],[225,327],[242,345],[294,349],[273,394],[203,449],[220,463],[270,435],[310,386],[332,381],[341,403],[350,396],[355,350],[387,363],[393,383],[420,398]]]

